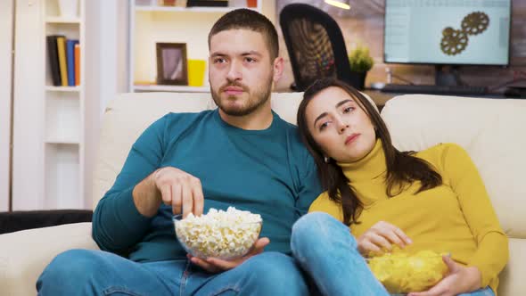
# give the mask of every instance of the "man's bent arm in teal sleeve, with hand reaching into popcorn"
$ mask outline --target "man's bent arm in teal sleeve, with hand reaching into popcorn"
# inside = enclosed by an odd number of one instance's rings
[[[137,139],[115,184],[95,209],[93,237],[105,251],[126,251],[140,242],[160,202],[171,206],[174,214],[202,213],[201,181],[180,169],[159,169],[168,149],[167,121],[168,116],[159,119]]]

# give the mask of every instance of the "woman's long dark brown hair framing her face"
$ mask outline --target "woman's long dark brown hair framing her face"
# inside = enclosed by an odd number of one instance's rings
[[[390,133],[385,122],[382,117],[380,117],[380,114],[376,111],[373,104],[370,103],[364,95],[352,86],[349,86],[338,79],[319,79],[309,86],[303,95],[303,100],[298,108],[298,128],[303,144],[307,146],[308,152],[314,157],[318,175],[324,189],[329,194],[329,198],[341,203],[343,210],[343,223],[345,223],[345,225],[350,226],[351,224],[358,222],[358,217],[363,209],[363,204],[358,199],[354,189],[349,184],[349,178],[345,177],[340,166],[338,166],[333,160],[330,160],[329,163],[325,163],[324,152],[308,131],[308,124],[305,116],[307,105],[314,96],[325,88],[331,86],[340,87],[347,92],[352,99],[357,101],[360,108],[366,111],[369,119],[371,119],[371,122],[376,129],[376,138],[380,138],[382,141],[382,148],[385,154],[385,164],[387,167],[385,184],[387,185],[387,196],[393,197],[398,195],[407,188],[408,185],[411,185],[415,181],[421,182],[421,186],[416,193],[423,192],[424,190],[442,184],[442,177],[431,167],[430,163],[413,156],[415,152],[399,152],[392,145]]]

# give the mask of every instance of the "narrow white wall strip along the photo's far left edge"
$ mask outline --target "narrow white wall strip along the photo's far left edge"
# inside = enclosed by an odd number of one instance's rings
[[[12,2],[0,1],[0,211],[9,210]]]

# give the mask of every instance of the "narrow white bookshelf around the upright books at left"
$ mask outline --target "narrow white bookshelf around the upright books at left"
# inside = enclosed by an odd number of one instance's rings
[[[85,209],[85,0],[78,13],[62,16],[59,0],[44,0],[44,209]],[[46,37],[77,39],[80,48],[79,86],[53,86]]]

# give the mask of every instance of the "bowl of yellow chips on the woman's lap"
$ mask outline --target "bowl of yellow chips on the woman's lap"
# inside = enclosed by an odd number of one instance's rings
[[[449,253],[393,252],[366,259],[374,276],[394,295],[429,290],[448,274],[442,256]]]

